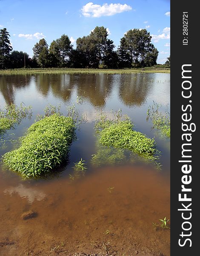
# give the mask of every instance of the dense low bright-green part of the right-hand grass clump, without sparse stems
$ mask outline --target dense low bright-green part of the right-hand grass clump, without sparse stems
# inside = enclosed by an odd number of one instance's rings
[[[99,141],[103,145],[126,148],[154,160],[153,155],[156,152],[154,140],[138,131],[133,131],[130,120],[119,121],[103,129]]]

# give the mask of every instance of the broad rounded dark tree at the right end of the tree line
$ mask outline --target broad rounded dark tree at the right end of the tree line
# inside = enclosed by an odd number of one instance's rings
[[[153,47],[150,33],[146,29],[131,29],[121,38],[119,52],[123,53],[124,61],[136,67]]]

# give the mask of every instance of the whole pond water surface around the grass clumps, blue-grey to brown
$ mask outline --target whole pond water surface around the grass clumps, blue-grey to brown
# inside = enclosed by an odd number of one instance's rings
[[[159,224],[159,218],[170,218],[170,140],[146,122],[153,100],[163,109],[169,103],[169,74],[0,76],[0,107],[11,102],[33,107],[32,119],[24,119],[5,140],[22,136],[48,103],[60,104],[63,113],[74,103],[88,118],[76,131],[78,140],[71,145],[69,163],[57,175],[23,180],[0,165],[0,255],[169,256],[170,230],[155,230],[152,225]],[[103,160],[98,167],[91,161],[98,150],[104,159],[108,154],[96,144],[97,113],[119,108],[131,117],[137,131],[155,137],[162,152],[161,171],[137,157],[125,157],[115,165]],[[7,141],[0,155],[14,146]],[[73,163],[81,157],[88,169],[71,180]],[[36,216],[23,220],[21,215],[29,210]]]

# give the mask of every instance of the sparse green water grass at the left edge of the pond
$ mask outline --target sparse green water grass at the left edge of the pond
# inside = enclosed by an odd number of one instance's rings
[[[11,105],[6,105],[3,110],[0,109],[0,135],[14,128],[14,125],[19,125],[27,116],[29,118],[32,116],[31,106],[23,106],[23,103],[20,106],[11,103]]]

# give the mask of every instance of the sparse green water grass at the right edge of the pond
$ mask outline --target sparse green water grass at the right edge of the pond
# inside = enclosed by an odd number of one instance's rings
[[[157,130],[161,131],[162,135],[170,138],[170,114],[168,112],[168,105],[165,113],[159,111],[161,107],[162,105],[155,103],[152,106],[149,106],[146,120],[148,121],[150,118],[154,124],[153,128],[157,128]]]

